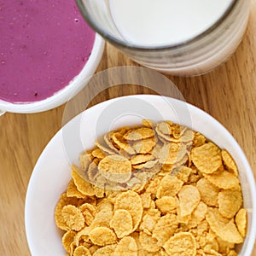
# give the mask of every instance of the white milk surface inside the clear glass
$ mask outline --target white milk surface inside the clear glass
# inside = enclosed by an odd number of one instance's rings
[[[179,44],[211,27],[232,0],[110,0],[115,26],[143,46]]]

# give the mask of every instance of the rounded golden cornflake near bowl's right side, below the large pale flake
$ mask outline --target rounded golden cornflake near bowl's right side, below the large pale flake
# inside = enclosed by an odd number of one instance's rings
[[[218,193],[218,211],[225,218],[233,218],[242,204],[240,189],[224,189]]]

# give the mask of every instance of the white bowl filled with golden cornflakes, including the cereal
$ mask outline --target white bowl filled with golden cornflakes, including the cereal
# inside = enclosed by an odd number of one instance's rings
[[[255,197],[247,159],[217,120],[176,99],[124,96],[80,113],[46,146],[26,236],[37,256],[250,255]]]

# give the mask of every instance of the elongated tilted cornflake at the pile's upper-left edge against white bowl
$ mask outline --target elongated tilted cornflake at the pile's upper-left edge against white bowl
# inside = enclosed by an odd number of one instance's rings
[[[73,181],[77,186],[77,189],[84,195],[95,195],[95,190],[92,185],[85,180],[84,172],[79,169],[78,166],[72,166],[71,176],[73,177]]]

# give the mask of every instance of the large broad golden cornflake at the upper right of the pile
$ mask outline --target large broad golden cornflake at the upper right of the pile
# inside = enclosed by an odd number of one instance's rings
[[[220,149],[213,143],[206,143],[191,150],[191,160],[203,174],[216,172],[222,165]]]

